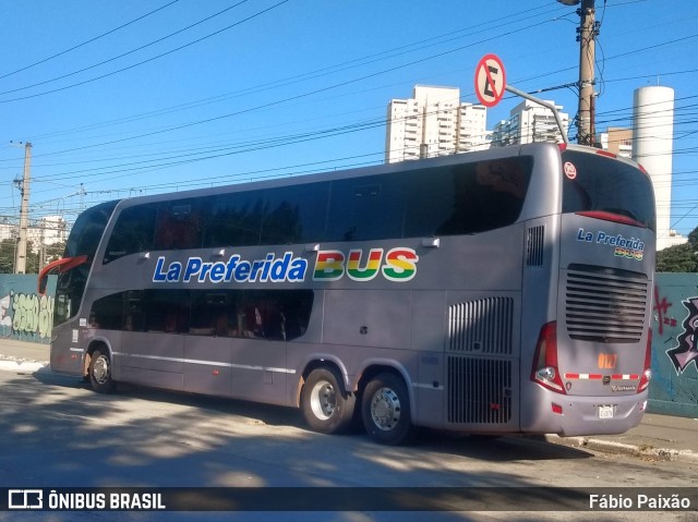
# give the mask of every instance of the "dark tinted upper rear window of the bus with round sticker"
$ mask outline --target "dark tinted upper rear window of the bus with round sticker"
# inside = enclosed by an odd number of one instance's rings
[[[563,213],[655,229],[652,183],[638,168],[595,154],[563,153]]]

